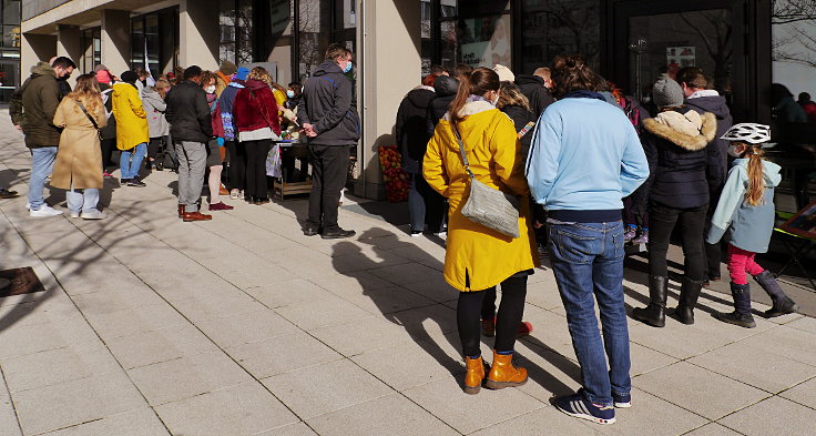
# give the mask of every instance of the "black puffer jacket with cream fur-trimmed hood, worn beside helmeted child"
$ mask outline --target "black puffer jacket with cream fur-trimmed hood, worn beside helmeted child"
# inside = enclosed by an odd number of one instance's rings
[[[712,145],[716,128],[713,113],[698,115],[688,108],[643,120],[641,142],[649,160],[653,203],[674,209],[708,203],[710,192],[722,182],[716,146]]]

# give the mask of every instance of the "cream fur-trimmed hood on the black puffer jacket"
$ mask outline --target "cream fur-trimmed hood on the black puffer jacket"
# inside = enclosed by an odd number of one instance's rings
[[[650,133],[682,149],[698,151],[714,140],[717,120],[711,112],[700,115],[691,110],[684,113],[666,111],[655,118],[643,120],[643,126]]]

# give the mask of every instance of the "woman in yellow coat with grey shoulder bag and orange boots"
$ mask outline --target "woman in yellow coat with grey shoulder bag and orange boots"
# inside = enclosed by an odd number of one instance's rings
[[[486,385],[518,386],[527,382],[527,369],[511,359],[516,333],[524,312],[527,276],[538,264],[536,239],[528,222],[529,195],[513,122],[496,109],[499,77],[489,69],[473,70],[461,80],[450,110],[437,124],[428,142],[422,171],[428,184],[450,203],[445,280],[461,291],[457,325],[468,372],[465,392],[476,394],[484,381],[479,347],[481,304],[486,291],[501,284],[501,305],[496,325],[493,362]],[[493,189],[517,195],[520,237],[512,239],[477,224],[461,214],[467,202],[469,176],[459,151],[457,131],[465,145],[470,170]]]

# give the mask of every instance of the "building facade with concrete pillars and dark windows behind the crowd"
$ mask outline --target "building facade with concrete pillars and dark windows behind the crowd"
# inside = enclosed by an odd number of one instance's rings
[[[21,19],[26,71],[57,54],[82,71],[154,75],[230,60],[263,63],[286,85],[307,79],[330,42],[347,45],[364,123],[358,194],[368,197],[381,195],[377,146],[394,143],[400,100],[434,64],[531,73],[580,52],[641,98],[659,74],[697,65],[738,121],[775,122],[772,83],[816,95],[816,7],[793,0],[30,0]]]

